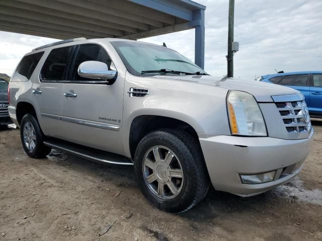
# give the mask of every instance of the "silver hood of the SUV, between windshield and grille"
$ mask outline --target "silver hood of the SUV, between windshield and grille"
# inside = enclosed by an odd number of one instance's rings
[[[162,78],[168,80],[187,81],[203,85],[211,85],[227,90],[240,90],[252,94],[258,102],[273,102],[273,95],[298,94],[299,91],[272,83],[260,81],[250,81],[234,78],[220,78],[211,75],[182,75],[164,76],[155,75],[152,78]]]

